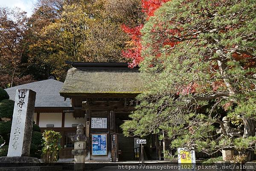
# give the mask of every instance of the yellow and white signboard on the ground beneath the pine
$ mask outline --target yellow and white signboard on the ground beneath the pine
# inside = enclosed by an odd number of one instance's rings
[[[178,162],[186,171],[195,171],[195,151],[178,148]]]

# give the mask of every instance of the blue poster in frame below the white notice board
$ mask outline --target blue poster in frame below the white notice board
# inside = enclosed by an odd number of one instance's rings
[[[92,156],[107,155],[107,134],[93,134],[92,148]]]

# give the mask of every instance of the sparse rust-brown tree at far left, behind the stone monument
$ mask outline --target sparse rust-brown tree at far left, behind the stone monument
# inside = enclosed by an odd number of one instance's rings
[[[0,8],[0,86],[31,82],[31,75],[20,70],[23,54],[22,41],[26,32],[27,17],[19,9]]]

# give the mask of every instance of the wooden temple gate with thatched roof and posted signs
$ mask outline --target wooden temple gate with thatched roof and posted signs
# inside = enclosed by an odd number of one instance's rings
[[[125,137],[120,125],[128,120],[143,92],[143,81],[138,68],[126,63],[67,62],[68,70],[60,95],[71,99],[73,117],[84,118],[89,137],[88,160],[111,159],[111,134],[117,133],[118,159],[134,160],[138,138]],[[75,132],[74,132],[75,134]]]

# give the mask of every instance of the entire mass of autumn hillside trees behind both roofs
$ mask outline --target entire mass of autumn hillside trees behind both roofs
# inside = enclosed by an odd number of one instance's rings
[[[0,59],[3,88],[50,75],[64,81],[65,61],[126,61],[121,51],[130,47],[129,37],[120,25],[137,26],[145,18],[140,0],[40,0],[30,17],[19,9],[3,9],[1,16],[1,27],[9,29],[1,30],[3,37],[15,42],[12,63],[11,51],[1,49],[2,56],[11,54]]]

